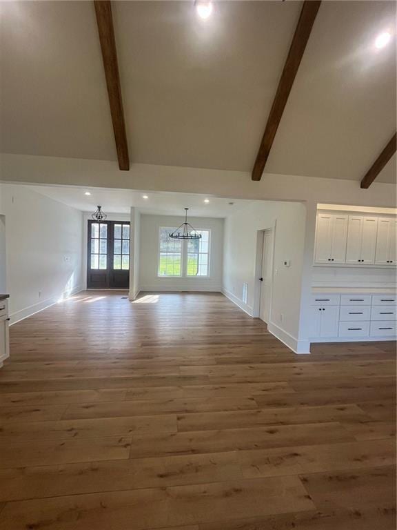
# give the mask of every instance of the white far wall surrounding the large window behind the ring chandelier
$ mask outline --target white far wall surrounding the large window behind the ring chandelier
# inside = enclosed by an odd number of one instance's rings
[[[211,230],[210,277],[158,277],[159,228],[179,226],[184,217],[141,215],[141,255],[139,289],[141,291],[221,291],[223,262],[223,219],[191,217],[196,230]]]

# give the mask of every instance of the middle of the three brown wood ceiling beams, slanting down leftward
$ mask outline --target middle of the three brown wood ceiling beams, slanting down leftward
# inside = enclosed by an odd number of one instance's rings
[[[289,92],[291,92],[296,73],[301,64],[303,52],[305,52],[307,41],[312,32],[312,27],[318,9],[320,8],[320,3],[320,1],[316,0],[306,0],[303,3],[294,38],[292,39],[283,73],[281,74],[281,79],[278,83],[276,96],[274,97],[272,108],[267,119],[261,146],[259,147],[258,155],[256,155],[254,168],[252,170],[252,180],[261,180],[262,178],[262,173],[265,169],[278,125],[283,116],[285,105],[287,104]]]

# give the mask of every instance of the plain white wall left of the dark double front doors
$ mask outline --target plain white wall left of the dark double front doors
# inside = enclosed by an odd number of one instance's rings
[[[82,214],[24,186],[0,187],[6,292],[16,322],[81,289]]]

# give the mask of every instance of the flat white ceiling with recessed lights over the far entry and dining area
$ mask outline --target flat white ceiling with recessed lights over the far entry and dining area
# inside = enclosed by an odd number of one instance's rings
[[[141,213],[150,215],[185,215],[183,208],[189,208],[189,215],[194,217],[227,217],[236,212],[244,199],[227,199],[209,195],[192,195],[188,193],[143,193],[133,190],[116,190],[105,188],[79,188],[76,186],[27,186],[31,190],[50,197],[58,202],[77,208],[83,212],[93,213],[101,205],[104,213],[130,213],[134,206]],[[85,195],[85,192],[91,195]],[[147,195],[147,199],[143,199]],[[210,202],[205,204],[204,199]],[[232,202],[233,204],[229,204]]]

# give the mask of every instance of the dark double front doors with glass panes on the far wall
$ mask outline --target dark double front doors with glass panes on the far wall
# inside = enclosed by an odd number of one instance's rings
[[[87,288],[128,289],[130,223],[88,221]]]

